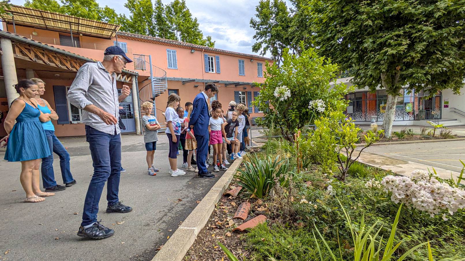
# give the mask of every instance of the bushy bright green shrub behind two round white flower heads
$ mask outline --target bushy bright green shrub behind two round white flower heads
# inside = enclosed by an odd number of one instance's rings
[[[339,72],[336,64],[319,57],[315,49],[303,45],[301,49],[299,55],[284,49],[280,67],[276,63],[266,65],[265,82],[253,102],[265,115],[259,124],[278,127],[289,141],[293,141],[296,130],[313,124],[325,109],[332,109],[331,104],[346,102],[344,95],[350,90],[343,84],[331,87]]]

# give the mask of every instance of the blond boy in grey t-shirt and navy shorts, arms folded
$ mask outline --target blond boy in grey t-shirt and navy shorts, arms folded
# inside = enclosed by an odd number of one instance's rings
[[[157,118],[151,115],[153,108],[152,102],[144,102],[142,103],[141,107],[145,112],[145,115],[142,117],[142,121],[144,122],[144,142],[147,151],[147,172],[150,176],[155,176],[155,172],[158,172],[159,169],[155,168],[155,166],[153,165],[153,155],[155,154],[155,150],[157,148],[157,131],[161,128],[161,126],[158,123]]]

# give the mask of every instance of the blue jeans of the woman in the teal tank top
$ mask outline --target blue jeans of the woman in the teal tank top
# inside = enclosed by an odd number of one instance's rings
[[[47,136],[48,146],[50,147],[50,156],[42,158],[42,182],[44,189],[49,189],[57,185],[55,180],[55,173],[53,172],[53,153],[57,154],[60,157],[60,169],[61,169],[61,178],[63,178],[63,183],[73,182],[74,178],[71,174],[69,168],[69,153],[66,151],[63,144],[55,136],[55,132],[51,130],[45,130]]]

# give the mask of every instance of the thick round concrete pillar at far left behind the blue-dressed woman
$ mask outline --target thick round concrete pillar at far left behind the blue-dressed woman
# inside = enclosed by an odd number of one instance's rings
[[[13,85],[18,83],[16,76],[16,65],[14,64],[13,46],[8,38],[0,38],[0,47],[2,50],[1,66],[5,80],[5,90],[7,91],[8,108],[14,99],[20,96]]]

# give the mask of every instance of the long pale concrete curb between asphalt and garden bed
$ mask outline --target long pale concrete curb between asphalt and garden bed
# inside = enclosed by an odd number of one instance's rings
[[[215,204],[223,195],[229,183],[233,180],[236,169],[241,164],[242,159],[234,160],[228,170],[219,178],[212,189],[208,191],[195,209],[187,216],[186,220],[179,226],[163,248],[153,257],[152,261],[182,261],[189,248],[194,243],[200,230],[208,222],[210,215],[215,208]]]

